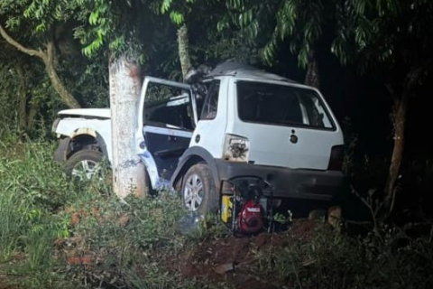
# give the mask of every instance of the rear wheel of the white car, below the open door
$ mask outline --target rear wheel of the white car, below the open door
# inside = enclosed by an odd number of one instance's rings
[[[214,178],[205,163],[191,166],[182,182],[182,200],[185,207],[200,214],[218,210],[218,194]]]

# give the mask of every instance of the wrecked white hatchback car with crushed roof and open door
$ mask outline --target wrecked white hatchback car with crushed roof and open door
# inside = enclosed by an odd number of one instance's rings
[[[344,174],[343,134],[318,89],[235,62],[189,84],[147,77],[137,151],[151,189],[175,188],[189,210],[216,211],[221,183],[257,177],[272,198],[331,200]],[[69,174],[92,174],[111,160],[109,109],[60,111],[55,158]]]

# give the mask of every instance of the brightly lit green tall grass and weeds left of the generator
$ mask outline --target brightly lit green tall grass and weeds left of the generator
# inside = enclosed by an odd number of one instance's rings
[[[155,272],[146,275],[150,288],[180,282],[155,271],[163,252],[185,245],[178,197],[120,201],[109,183],[70,182],[52,161],[55,144],[9,139],[0,147],[0,262],[14,264],[0,274],[13,273],[26,288],[61,287],[64,275],[78,287],[134,287],[129,279],[139,284],[143,270]]]

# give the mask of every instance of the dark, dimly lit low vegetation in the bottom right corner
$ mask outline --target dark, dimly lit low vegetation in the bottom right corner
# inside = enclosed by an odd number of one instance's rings
[[[431,238],[410,238],[381,228],[382,238],[349,238],[318,223],[312,236],[257,252],[257,275],[273,275],[290,288],[428,288]],[[419,266],[423,264],[423,266]]]

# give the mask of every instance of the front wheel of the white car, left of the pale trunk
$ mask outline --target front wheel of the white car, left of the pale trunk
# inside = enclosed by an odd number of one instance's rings
[[[66,162],[66,174],[80,181],[88,181],[101,172],[101,162],[104,155],[95,150],[81,150]]]

